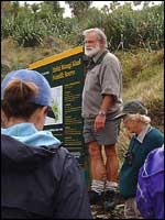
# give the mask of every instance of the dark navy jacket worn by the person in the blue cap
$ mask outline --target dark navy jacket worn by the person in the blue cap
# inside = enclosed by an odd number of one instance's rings
[[[90,219],[76,158],[62,146],[28,146],[1,135],[2,218]]]

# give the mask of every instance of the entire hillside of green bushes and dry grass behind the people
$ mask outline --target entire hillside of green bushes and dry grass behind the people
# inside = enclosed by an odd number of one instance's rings
[[[143,101],[152,125],[164,132],[164,1],[158,6],[111,1],[100,10],[91,2],[66,1],[73,15],[64,18],[58,1],[23,7],[19,1],[1,1],[1,79],[10,70],[28,68],[31,63],[81,45],[82,31],[97,26],[105,31],[109,50],[121,61],[123,101]],[[141,4],[141,10],[134,10],[133,4]],[[121,164],[129,141],[130,134],[121,125]],[[122,219],[123,209],[117,212],[110,217]]]

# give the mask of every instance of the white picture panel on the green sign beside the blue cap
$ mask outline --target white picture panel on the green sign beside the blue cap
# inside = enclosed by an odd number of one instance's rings
[[[46,117],[45,125],[63,123],[63,86],[51,88],[53,118]]]

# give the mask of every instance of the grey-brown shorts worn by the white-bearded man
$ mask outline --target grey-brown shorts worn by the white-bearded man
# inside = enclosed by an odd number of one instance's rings
[[[97,141],[99,145],[114,145],[118,141],[121,120],[106,120],[103,130],[96,132],[94,130],[95,119],[84,120],[85,143]]]

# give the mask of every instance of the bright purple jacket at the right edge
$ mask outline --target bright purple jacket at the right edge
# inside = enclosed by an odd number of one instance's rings
[[[140,169],[136,202],[145,219],[164,219],[164,146],[152,151]]]

